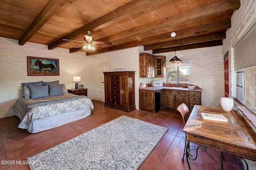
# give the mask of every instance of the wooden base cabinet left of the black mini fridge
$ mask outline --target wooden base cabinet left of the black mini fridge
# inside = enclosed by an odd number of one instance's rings
[[[155,113],[155,92],[139,89],[140,109]]]

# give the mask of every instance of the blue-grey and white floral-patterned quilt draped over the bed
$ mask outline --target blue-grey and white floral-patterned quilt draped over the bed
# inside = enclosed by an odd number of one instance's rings
[[[18,98],[14,105],[15,115],[17,115],[21,122],[19,128],[28,129],[31,128],[32,121],[36,119],[44,119],[47,117],[52,117],[54,115],[59,115],[61,113],[67,113],[70,111],[75,111],[79,109],[84,109],[90,107],[92,110],[94,106],[90,98],[83,96],[82,98],[67,100],[59,102],[58,100],[72,98],[77,95],[66,93],[59,96],[50,96],[38,99],[25,99],[24,97]],[[49,102],[51,100],[57,100],[54,103],[42,104],[37,106],[32,106],[28,108],[28,104],[35,102]]]

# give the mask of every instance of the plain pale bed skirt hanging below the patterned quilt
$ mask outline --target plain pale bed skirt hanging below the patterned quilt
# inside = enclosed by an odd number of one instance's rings
[[[66,123],[70,123],[72,121],[88,117],[89,115],[91,115],[91,113],[91,108],[88,107],[76,111],[70,111],[68,113],[62,113],[60,115],[55,115],[45,119],[36,119],[32,121],[32,125],[28,132],[38,133],[41,131],[46,131],[48,129],[52,129],[54,127],[58,127]]]

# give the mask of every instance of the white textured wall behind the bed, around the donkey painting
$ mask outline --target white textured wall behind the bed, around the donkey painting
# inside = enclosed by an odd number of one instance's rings
[[[59,59],[60,76],[27,76],[27,56]],[[92,58],[85,53],[70,54],[68,49],[48,50],[47,45],[27,42],[18,45],[18,40],[0,37],[0,118],[14,115],[13,105],[18,97],[24,96],[22,82],[51,82],[60,80],[68,89],[75,88],[73,76],[81,76],[92,98]]]

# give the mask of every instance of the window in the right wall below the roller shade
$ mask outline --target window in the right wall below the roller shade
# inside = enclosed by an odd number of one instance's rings
[[[256,113],[256,66],[239,69],[236,74],[236,98]]]

